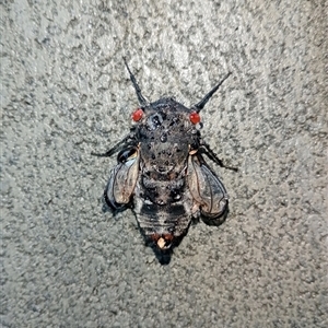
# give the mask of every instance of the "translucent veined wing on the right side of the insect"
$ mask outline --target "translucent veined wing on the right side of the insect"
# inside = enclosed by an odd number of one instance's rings
[[[208,224],[222,223],[227,214],[227,194],[219,177],[198,153],[188,157],[187,180],[203,221]]]

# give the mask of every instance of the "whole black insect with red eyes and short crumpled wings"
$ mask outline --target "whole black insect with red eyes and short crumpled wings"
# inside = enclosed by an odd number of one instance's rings
[[[199,103],[190,108],[164,97],[148,102],[127,61],[139,107],[132,113],[130,132],[97,156],[117,155],[105,188],[107,206],[119,211],[131,208],[147,241],[165,251],[186,235],[192,219],[220,224],[229,210],[226,190],[204,156],[223,164],[200,134],[200,110],[227,73]]]

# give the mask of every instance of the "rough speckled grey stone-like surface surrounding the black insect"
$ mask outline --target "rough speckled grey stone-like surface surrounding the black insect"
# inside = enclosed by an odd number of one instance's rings
[[[325,5],[1,1],[2,327],[327,327]],[[168,266],[102,212],[116,160],[90,153],[138,105],[122,56],[153,101],[233,72],[202,113],[231,212]]]

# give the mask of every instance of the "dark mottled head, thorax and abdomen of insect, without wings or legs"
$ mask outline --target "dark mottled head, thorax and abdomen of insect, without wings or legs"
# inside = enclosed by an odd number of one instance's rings
[[[190,109],[172,98],[144,109],[138,122],[140,176],[134,190],[134,212],[147,237],[169,248],[187,231],[192,197],[186,180],[190,142],[196,138]]]

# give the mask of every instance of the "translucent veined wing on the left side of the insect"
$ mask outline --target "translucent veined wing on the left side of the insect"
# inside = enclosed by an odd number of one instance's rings
[[[136,147],[118,154],[118,164],[110,172],[104,192],[105,201],[112,209],[124,209],[131,201],[139,176],[139,161],[140,152]]]

